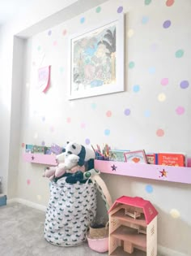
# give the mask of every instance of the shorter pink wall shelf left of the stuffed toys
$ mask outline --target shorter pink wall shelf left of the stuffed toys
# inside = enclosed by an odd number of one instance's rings
[[[56,155],[23,153],[23,160],[29,163],[40,163],[56,166]]]

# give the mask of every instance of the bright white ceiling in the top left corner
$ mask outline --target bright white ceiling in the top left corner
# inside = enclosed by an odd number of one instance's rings
[[[35,2],[40,0],[0,0],[0,25],[22,15]]]

